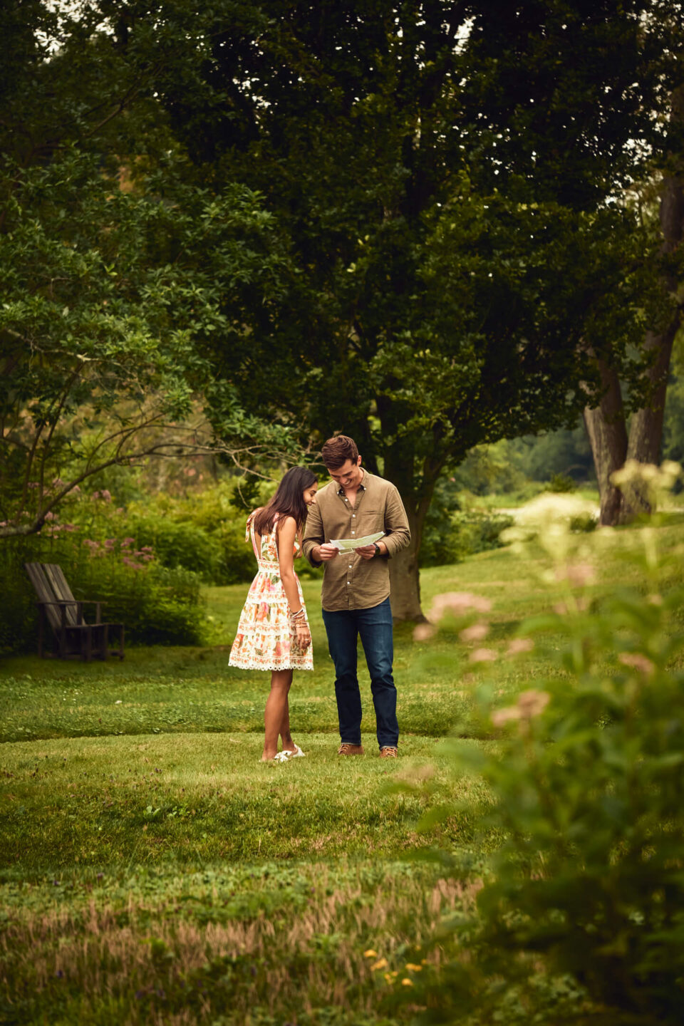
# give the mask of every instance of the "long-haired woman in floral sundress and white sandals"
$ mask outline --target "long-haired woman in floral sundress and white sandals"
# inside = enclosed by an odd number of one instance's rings
[[[258,573],[247,593],[231,666],[271,670],[271,694],[264,713],[263,762],[287,761],[304,755],[292,741],[287,695],[293,670],[313,670],[311,631],[294,573],[307,509],[315,502],[318,479],[307,467],[291,467],[271,502],[247,518]],[[278,751],[278,735],[283,749]]]

